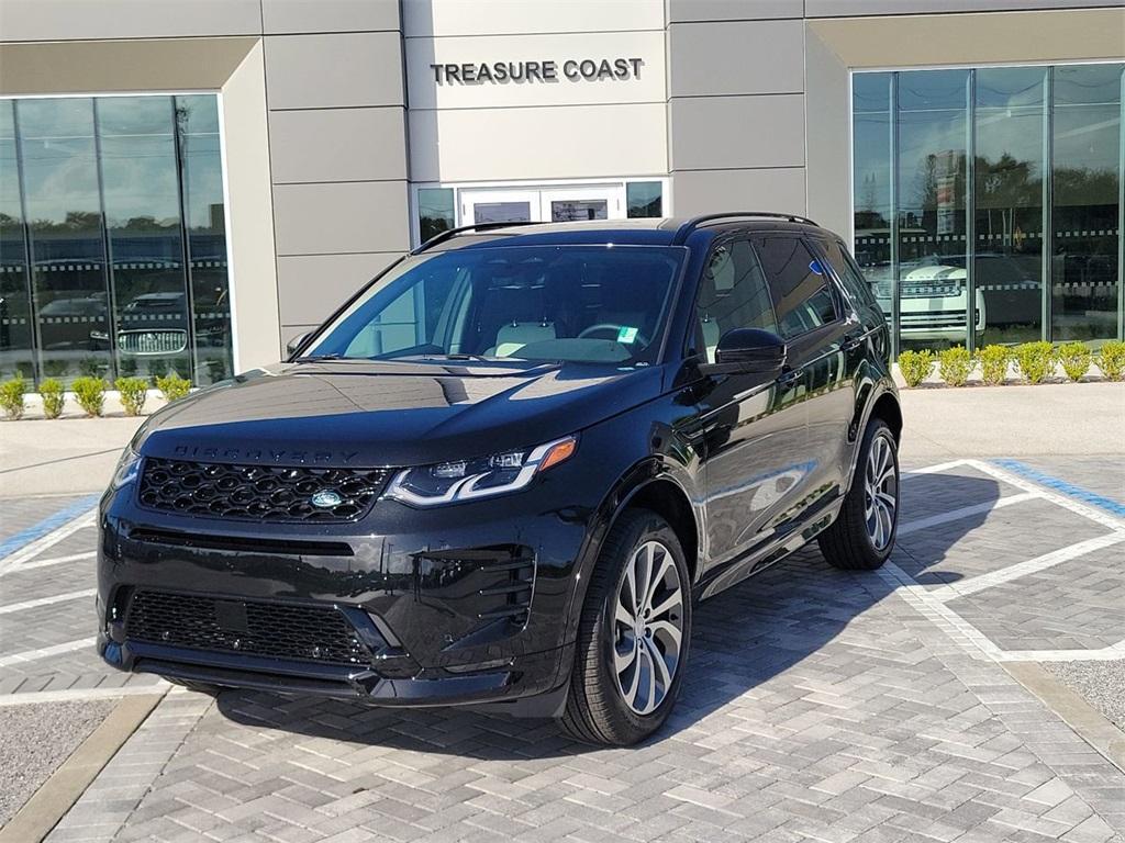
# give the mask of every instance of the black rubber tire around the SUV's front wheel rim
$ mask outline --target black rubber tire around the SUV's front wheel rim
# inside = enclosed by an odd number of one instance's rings
[[[674,615],[681,622],[681,642],[663,700],[650,713],[638,714],[626,701],[613,670],[618,637],[614,609],[627,563],[638,549],[651,541],[664,545],[678,575],[681,607]],[[675,531],[664,518],[647,509],[626,511],[606,536],[586,591],[562,727],[579,741],[610,746],[630,746],[650,736],[664,725],[675,705],[686,668],[691,632],[691,579]],[[649,670],[652,670],[651,662]]]

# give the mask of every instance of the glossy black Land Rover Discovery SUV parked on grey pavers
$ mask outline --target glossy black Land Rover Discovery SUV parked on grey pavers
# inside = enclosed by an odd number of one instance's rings
[[[890,554],[888,353],[802,218],[446,232],[287,362],[141,428],[101,501],[98,649],[634,743],[696,600],[812,538],[840,568]]]

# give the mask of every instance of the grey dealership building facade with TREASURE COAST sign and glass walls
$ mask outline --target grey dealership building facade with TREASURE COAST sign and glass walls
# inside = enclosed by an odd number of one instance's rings
[[[276,361],[485,220],[807,215],[896,347],[1119,338],[1125,2],[0,0],[0,378]]]

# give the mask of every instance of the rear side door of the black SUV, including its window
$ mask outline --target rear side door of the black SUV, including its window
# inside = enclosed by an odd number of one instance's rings
[[[758,235],[755,246],[770,278],[778,332],[789,346],[790,365],[800,374],[808,414],[808,483],[792,514],[803,520],[842,491],[850,471],[850,384],[862,330],[822,259],[799,234]]]

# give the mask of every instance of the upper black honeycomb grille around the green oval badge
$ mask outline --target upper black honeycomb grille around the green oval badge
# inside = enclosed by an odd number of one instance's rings
[[[382,492],[386,469],[228,465],[147,456],[140,501],[146,509],[253,522],[349,522]],[[314,506],[317,492],[338,504]]]

